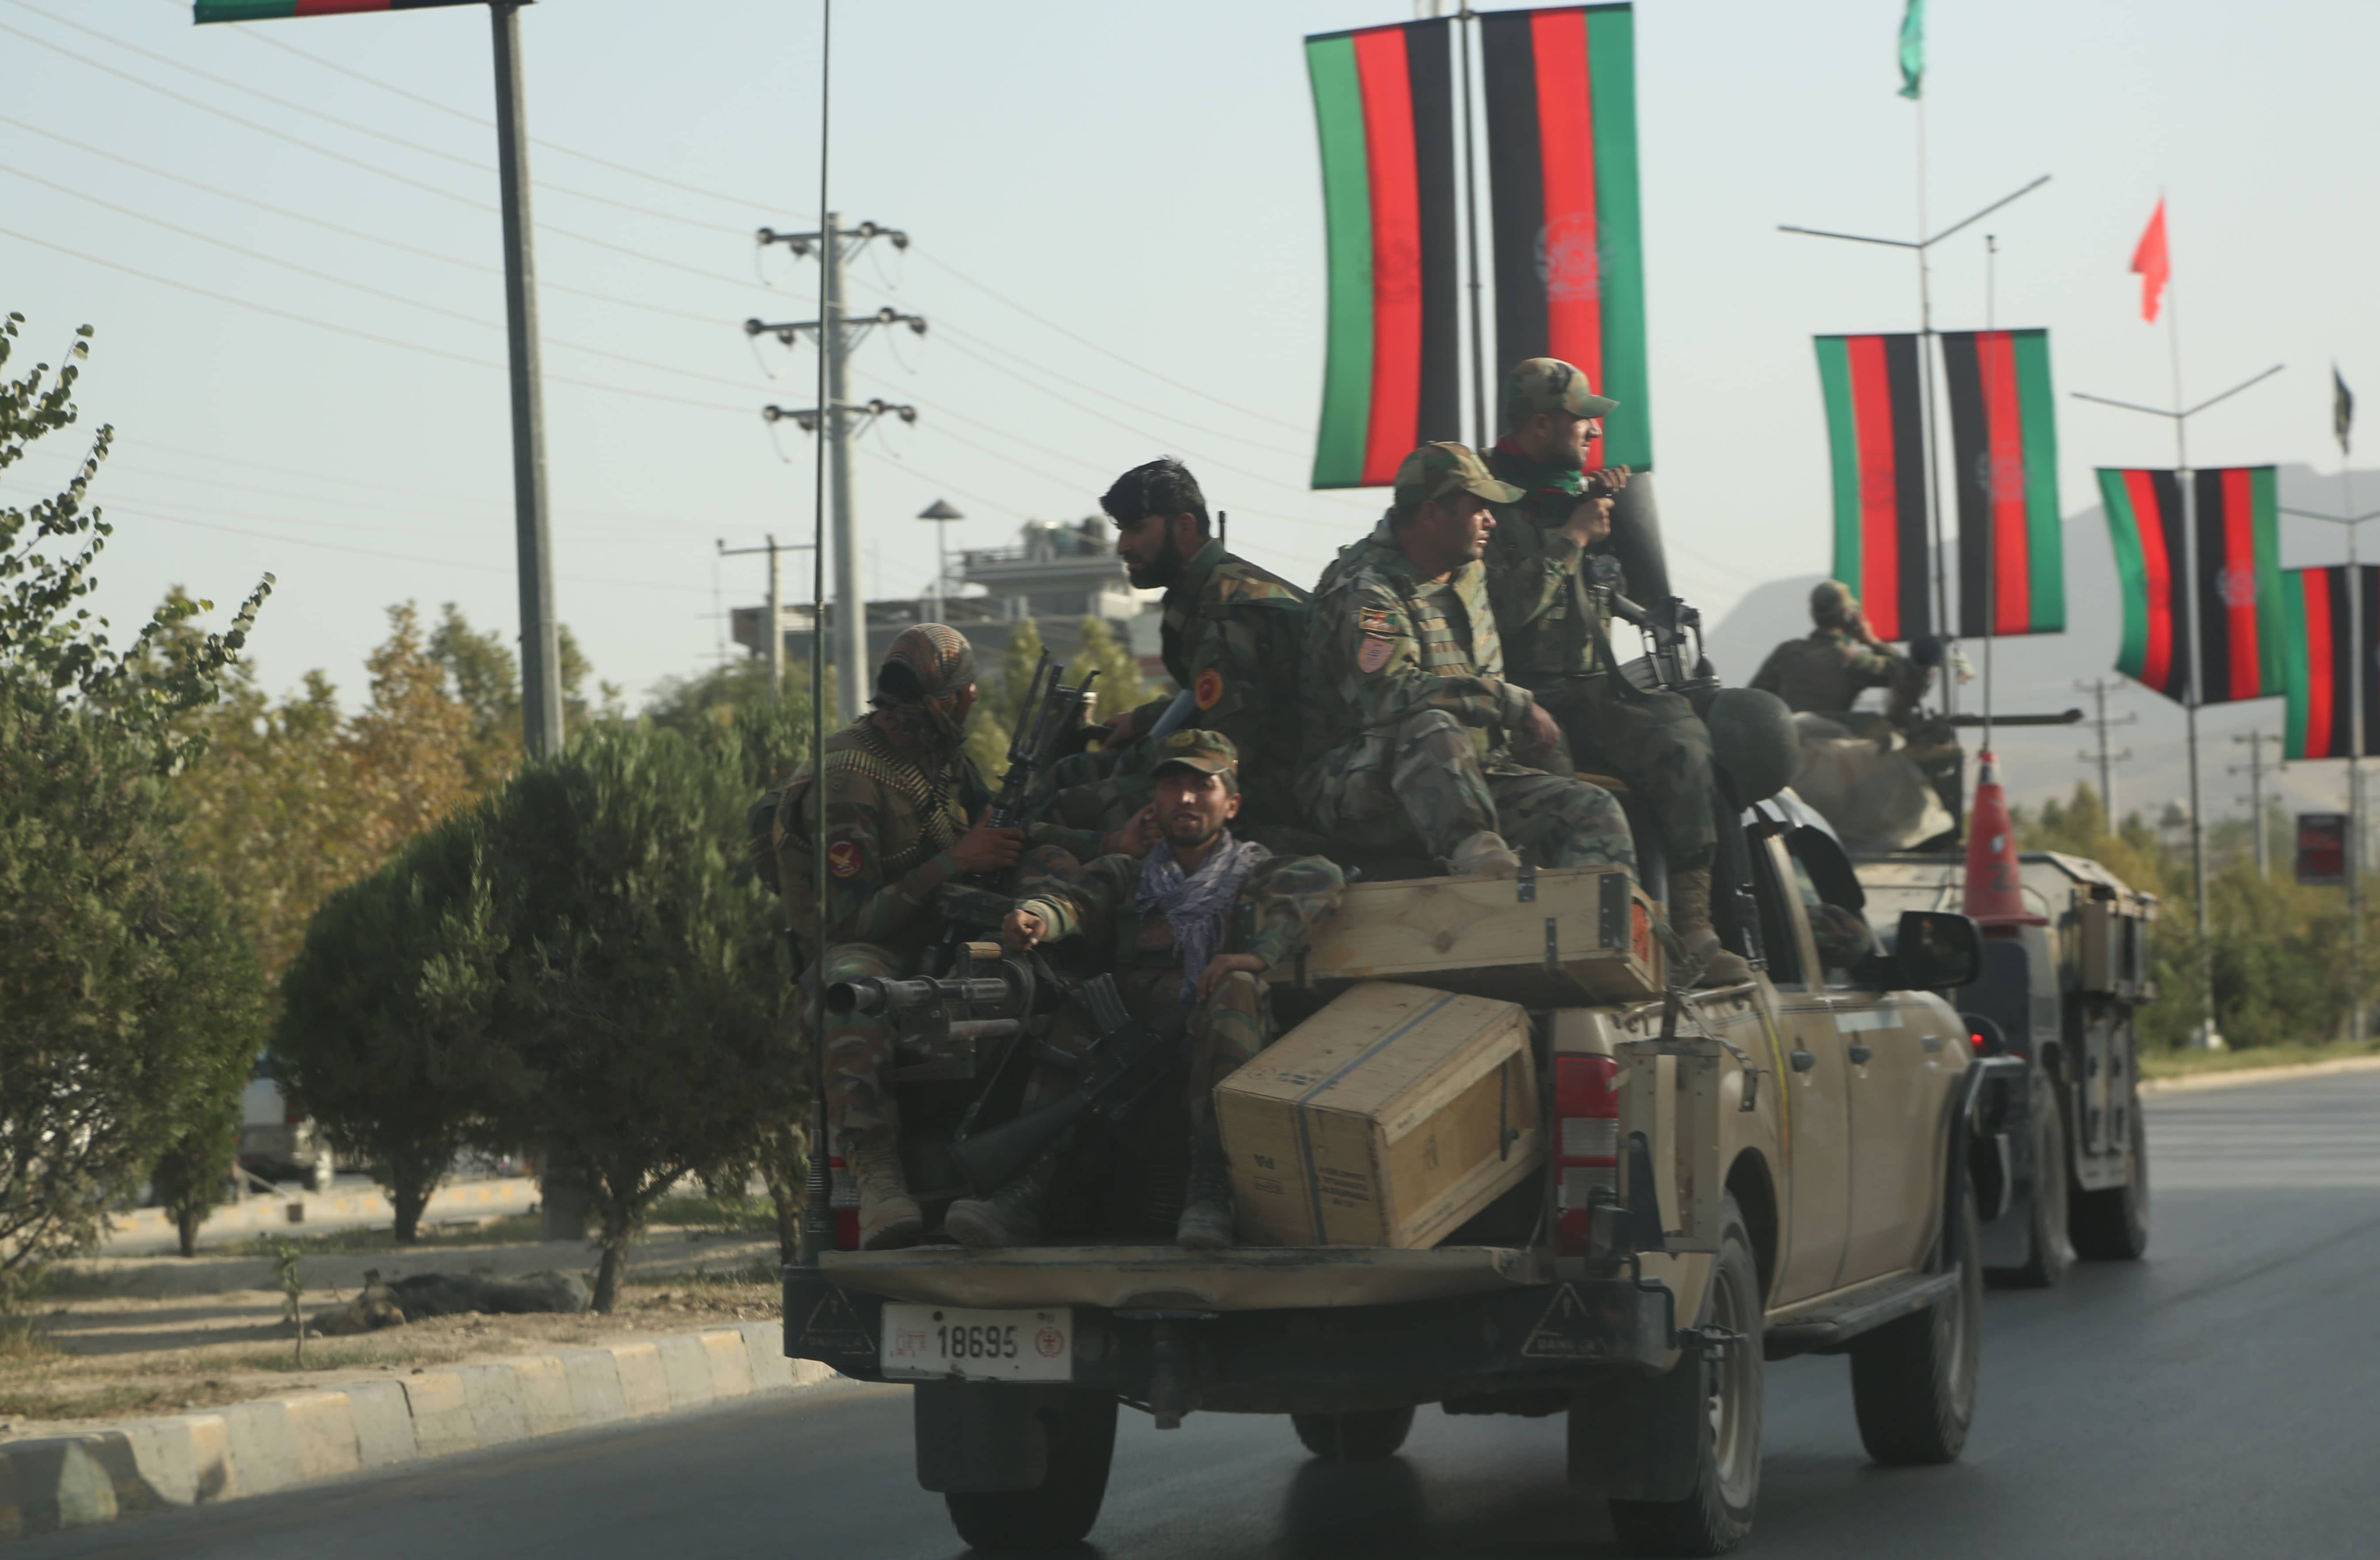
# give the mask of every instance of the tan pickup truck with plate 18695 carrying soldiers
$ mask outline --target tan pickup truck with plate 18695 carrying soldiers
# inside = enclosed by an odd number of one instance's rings
[[[985,1550],[1092,1529],[1119,1405],[1157,1427],[1290,1415],[1335,1460],[1395,1455],[1430,1403],[1561,1415],[1571,1479],[1661,1553],[1749,1531],[1764,1360],[1849,1355],[1878,1462],[1956,1458],[1999,1065],[1937,993],[1975,979],[1980,938],[1947,912],[1868,938],[1852,862],[1806,817],[1761,803],[1723,845],[1745,986],[1666,988],[1640,891],[1587,867],[1359,884],[1276,972],[1285,1022],[1380,981],[1514,1003],[1533,1088],[1497,1098],[1535,1119],[1497,1153],[1528,1169],[1430,1243],[838,1250],[785,1269],[785,1353],[914,1381],[919,1481]],[[1640,996],[1611,996],[1630,969]]]

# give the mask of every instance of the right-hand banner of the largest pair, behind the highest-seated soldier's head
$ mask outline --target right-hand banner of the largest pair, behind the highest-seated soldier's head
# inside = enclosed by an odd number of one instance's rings
[[[1480,17],[1495,195],[1499,374],[1559,357],[1621,410],[1587,464],[1652,467],[1635,12],[1564,5]]]

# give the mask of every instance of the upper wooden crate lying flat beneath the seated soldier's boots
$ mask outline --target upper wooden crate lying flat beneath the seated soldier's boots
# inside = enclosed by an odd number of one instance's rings
[[[1411,981],[1528,1007],[1661,993],[1654,905],[1623,867],[1349,884],[1290,981]]]

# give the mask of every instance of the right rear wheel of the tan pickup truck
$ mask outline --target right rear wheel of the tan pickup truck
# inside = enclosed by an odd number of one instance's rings
[[[1611,1531],[1633,1555],[1723,1555],[1752,1531],[1761,1493],[1761,1272],[1745,1215],[1728,1196],[1704,1319],[1740,1334],[1718,1360],[1685,1353],[1649,1381],[1661,1393],[1695,1393],[1695,1489],[1685,1500],[1609,1500]],[[1578,1412],[1578,1410],[1573,1410]],[[1661,1415],[1668,1417],[1668,1415]]]

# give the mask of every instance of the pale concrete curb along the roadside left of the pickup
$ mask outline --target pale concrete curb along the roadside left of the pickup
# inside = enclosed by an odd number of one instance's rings
[[[0,1541],[840,1379],[783,1343],[745,1322],[0,1441]]]

